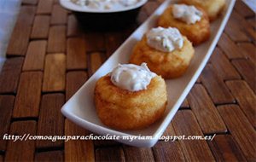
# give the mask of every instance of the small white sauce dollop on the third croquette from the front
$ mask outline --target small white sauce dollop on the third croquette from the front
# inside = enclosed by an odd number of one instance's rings
[[[201,20],[202,13],[195,6],[185,4],[174,4],[172,9],[173,17],[178,20],[183,20],[187,24],[195,24]]]

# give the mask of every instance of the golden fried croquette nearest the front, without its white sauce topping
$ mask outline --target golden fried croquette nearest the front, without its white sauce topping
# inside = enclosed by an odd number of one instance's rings
[[[153,124],[166,110],[166,83],[160,76],[151,79],[146,90],[123,90],[109,75],[95,88],[96,112],[103,124],[117,130],[137,130]]]

